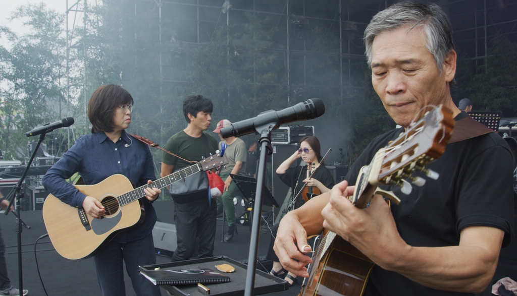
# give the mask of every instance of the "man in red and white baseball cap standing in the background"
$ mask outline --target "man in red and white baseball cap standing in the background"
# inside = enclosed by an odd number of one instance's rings
[[[219,142],[219,149],[221,149],[221,144],[223,143],[228,145],[224,151],[224,155],[226,155],[228,158],[229,163],[226,165],[226,167],[221,169],[219,174],[221,179],[224,181],[224,192],[221,196],[221,199],[217,199],[218,208],[220,207],[222,201],[228,222],[228,230],[224,235],[225,242],[230,242],[233,239],[234,233],[236,232],[236,217],[233,197],[238,193],[238,188],[237,185],[235,185],[235,182],[232,182],[232,177],[230,174],[246,176],[246,157],[248,153],[246,144],[244,141],[242,141],[242,139],[234,136],[224,139],[221,136],[221,129],[231,125],[232,122],[230,122],[230,120],[223,119],[217,123],[217,127],[214,130],[214,133],[219,134],[219,138],[221,139],[221,142]]]

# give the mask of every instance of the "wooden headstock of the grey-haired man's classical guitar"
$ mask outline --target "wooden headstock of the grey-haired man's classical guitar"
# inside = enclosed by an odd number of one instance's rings
[[[418,186],[425,183],[425,179],[412,176],[416,171],[437,179],[438,174],[425,166],[445,152],[454,123],[452,111],[443,105],[428,112],[387,147],[379,150],[369,166],[361,169],[351,200],[355,203],[370,186],[383,184],[399,185],[403,193],[409,194],[411,185],[407,180]],[[393,201],[398,202],[398,198],[394,197]]]

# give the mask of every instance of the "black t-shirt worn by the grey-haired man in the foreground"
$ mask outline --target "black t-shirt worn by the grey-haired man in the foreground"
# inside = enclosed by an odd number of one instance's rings
[[[455,120],[465,116],[458,115]],[[345,177],[355,184],[359,169],[403,128],[376,137],[363,151]],[[512,155],[506,142],[489,133],[447,145],[445,153],[427,168],[440,174],[438,180],[425,177],[421,188],[409,195],[398,186],[391,189],[401,199],[391,211],[401,237],[412,246],[459,245],[460,231],[468,226],[491,226],[505,231],[503,246],[513,233]],[[472,295],[438,291],[375,266],[365,295]]]

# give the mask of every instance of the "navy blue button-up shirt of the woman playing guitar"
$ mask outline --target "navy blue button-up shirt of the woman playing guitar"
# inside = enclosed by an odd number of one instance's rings
[[[147,180],[156,180],[149,146],[129,137],[125,131],[122,131],[117,143],[113,143],[103,132],[79,137],[75,145],[48,170],[43,177],[43,186],[70,206],[81,207],[86,195],[65,181],[77,172],[86,185],[97,184],[114,174],[126,176],[137,187],[147,184]],[[153,231],[155,209],[145,197],[140,200],[145,210],[144,222],[118,233],[114,241],[125,243],[139,240]]]

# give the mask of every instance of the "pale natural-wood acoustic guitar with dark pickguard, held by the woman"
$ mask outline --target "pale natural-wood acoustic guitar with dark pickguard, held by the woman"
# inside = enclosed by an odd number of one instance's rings
[[[128,178],[119,174],[95,185],[75,185],[82,193],[101,202],[106,211],[101,219],[95,219],[84,209],[71,207],[50,194],[43,204],[43,220],[50,240],[57,253],[65,258],[91,257],[117,233],[143,222],[145,212],[139,199],[145,196],[145,188],[162,189],[225,164],[228,164],[228,159],[218,153],[136,189]]]

